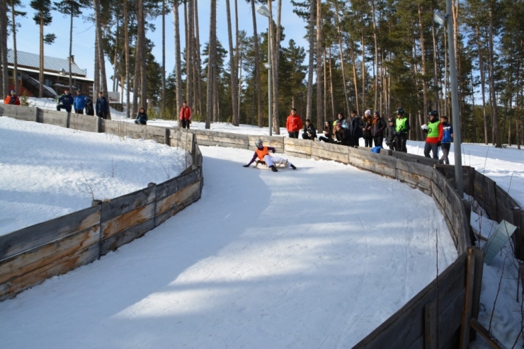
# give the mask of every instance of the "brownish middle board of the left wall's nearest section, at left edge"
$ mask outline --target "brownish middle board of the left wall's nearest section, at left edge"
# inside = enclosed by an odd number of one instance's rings
[[[99,237],[100,226],[97,225],[12,256],[0,263],[0,283],[72,255],[82,248],[98,244]]]

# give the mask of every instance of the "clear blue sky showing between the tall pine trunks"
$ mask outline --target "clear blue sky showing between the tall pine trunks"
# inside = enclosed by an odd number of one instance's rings
[[[292,12],[292,5],[289,1],[282,1],[282,25],[285,27],[285,41],[284,46],[290,39],[295,40],[297,45],[307,48],[307,40],[304,39],[306,30],[304,28],[304,21]],[[16,21],[20,23],[21,28],[18,28],[16,35],[16,44],[18,51],[39,52],[39,27],[33,21],[34,10],[28,5],[29,1],[23,1],[25,8],[22,11],[27,11],[25,18],[17,18]],[[276,1],[273,2],[276,4]],[[230,0],[232,6],[232,16],[234,16],[234,0]],[[238,0],[239,6],[239,30],[246,30],[248,35],[253,35],[253,23],[251,21],[251,5],[246,0]],[[179,8],[181,21],[181,38],[184,38],[183,31],[183,6]],[[87,11],[86,11],[87,13]],[[57,39],[52,45],[45,45],[44,55],[51,57],[67,58],[69,56],[69,18],[54,11],[52,13],[53,20],[50,25],[45,27],[45,33],[55,33]],[[276,19],[276,6],[273,6],[273,18]],[[207,42],[209,37],[209,19],[210,19],[210,1],[198,1],[198,19],[200,26],[200,43]],[[258,33],[265,32],[268,27],[268,20],[266,17],[256,13],[257,30]],[[156,62],[161,64],[161,18],[155,22],[156,31],[147,32],[147,37],[155,42],[153,54],[156,57]],[[234,23],[233,30],[234,30]],[[73,55],[76,64],[81,69],[87,70],[87,76],[93,79],[94,67],[94,38],[95,27],[91,22],[85,22],[84,18],[74,18],[74,42]],[[217,0],[217,38],[222,42],[222,46],[228,47],[227,43],[227,13],[224,0]],[[181,45],[184,46],[184,40],[181,40]],[[8,47],[13,47],[13,41],[8,38]],[[173,30],[173,13],[166,16],[166,74],[173,70],[175,64],[174,58],[174,30]],[[113,74],[112,65],[106,60],[106,69],[108,69],[108,76]],[[108,87],[111,89],[112,84]]]

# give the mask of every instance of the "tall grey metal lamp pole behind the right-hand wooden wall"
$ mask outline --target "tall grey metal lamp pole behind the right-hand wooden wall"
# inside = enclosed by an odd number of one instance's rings
[[[448,52],[450,57],[450,89],[451,113],[453,120],[453,152],[455,153],[455,189],[460,198],[464,198],[464,185],[462,183],[462,150],[460,143],[460,115],[458,105],[457,62],[455,62],[455,35],[453,35],[453,17],[451,0],[446,0],[446,13],[448,15]]]

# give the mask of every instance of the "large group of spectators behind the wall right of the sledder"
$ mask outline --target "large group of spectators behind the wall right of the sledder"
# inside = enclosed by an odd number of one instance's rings
[[[389,149],[406,153],[410,126],[404,113],[403,108],[398,108],[396,111],[397,118],[389,118],[387,122],[378,111],[371,113],[371,110],[366,110],[364,116],[360,118],[356,110],[352,110],[351,120],[346,119],[343,113],[338,113],[337,120],[333,123],[324,122],[324,135],[318,137],[318,140],[348,147],[358,147],[359,139],[363,138],[364,147],[380,149],[385,138]],[[453,137],[453,128],[448,122],[447,116],[441,116],[439,120],[436,110],[431,111],[428,116],[428,125],[422,125],[423,132],[427,133],[424,156],[430,157],[432,151],[433,159],[438,159],[438,148],[440,147],[443,151],[443,156],[440,159],[445,164],[449,164],[448,154]],[[298,138],[302,127],[304,127],[302,139],[317,139],[317,130],[312,125],[311,120],[306,119],[306,125],[302,125],[297,110],[292,108],[286,122],[289,137]]]

